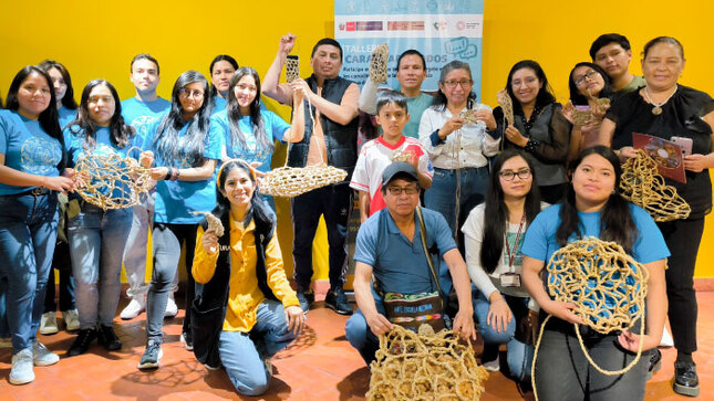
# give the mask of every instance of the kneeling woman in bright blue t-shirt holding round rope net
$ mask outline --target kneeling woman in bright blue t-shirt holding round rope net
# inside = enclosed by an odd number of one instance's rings
[[[561,204],[544,210],[528,228],[524,241],[522,275],[531,297],[550,314],[536,360],[536,391],[541,400],[642,400],[649,358],[643,356],[629,371],[606,376],[582,353],[572,324],[584,323],[572,313],[573,304],[551,299],[540,273],[546,261],[568,242],[596,236],[620,244],[650,273],[646,296],[645,335],[638,321],[630,331],[583,336],[592,360],[603,369],[618,370],[643,350],[655,348],[662,337],[666,313],[664,262],[670,252],[662,233],[641,208],[628,203],[618,192],[620,160],[603,146],[583,150],[572,163],[572,180]],[[587,331],[582,329],[581,333]],[[646,353],[646,352],[645,352]]]

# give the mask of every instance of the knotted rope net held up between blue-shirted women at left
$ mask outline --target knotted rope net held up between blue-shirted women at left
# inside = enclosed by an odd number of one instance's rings
[[[142,167],[128,155],[115,151],[85,152],[76,160],[76,192],[84,201],[104,210],[131,208],[139,202],[139,194],[153,187],[149,169]],[[141,150],[141,149],[138,149]]]

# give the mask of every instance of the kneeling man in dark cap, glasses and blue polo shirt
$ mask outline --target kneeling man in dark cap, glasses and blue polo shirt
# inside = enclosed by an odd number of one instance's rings
[[[424,294],[434,291],[432,273],[415,210],[420,202],[418,175],[405,162],[390,165],[382,175],[382,194],[386,208],[372,214],[358,233],[354,261],[354,296],[359,309],[348,320],[350,344],[370,365],[379,348],[377,337],[392,329],[382,298],[372,288],[372,275],[381,292]],[[438,261],[446,263],[451,277],[439,277],[442,288],[452,281],[458,297],[458,313],[453,329],[476,338],[470,281],[466,263],[456,247],[448,224],[441,213],[422,209],[426,245],[438,250]],[[431,257],[431,255],[430,255]],[[451,286],[451,283],[448,283]]]

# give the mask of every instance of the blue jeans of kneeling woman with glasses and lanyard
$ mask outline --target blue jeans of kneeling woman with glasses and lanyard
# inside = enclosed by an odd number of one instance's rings
[[[527,346],[516,339],[516,318],[520,318],[520,316],[517,316],[519,310],[527,312],[528,300],[530,298],[515,297],[505,294],[501,295],[511,310],[511,317],[506,330],[498,333],[488,325],[488,309],[490,308],[490,303],[486,299],[484,293],[477,291],[477,295],[474,298],[474,313],[478,319],[478,333],[484,337],[484,347],[487,347],[488,345],[507,345],[508,351],[506,353],[506,359],[508,361],[508,369],[514,378],[518,379],[518,381],[522,381],[530,378],[530,367],[532,366],[534,360],[534,347]]]

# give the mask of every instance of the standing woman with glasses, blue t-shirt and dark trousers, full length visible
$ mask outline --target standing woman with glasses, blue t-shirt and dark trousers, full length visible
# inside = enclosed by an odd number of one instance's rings
[[[172,282],[177,274],[182,244],[186,244],[186,316],[182,341],[193,349],[190,303],[195,283],[192,263],[201,217],[216,205],[214,172],[220,159],[220,138],[208,134],[210,118],[208,81],[196,71],[183,73],[172,93],[172,108],[149,127],[145,150],[154,152],[152,178],[156,180],[154,209],[154,271],[146,304],[146,350],[138,368],[158,368],[162,325]]]

